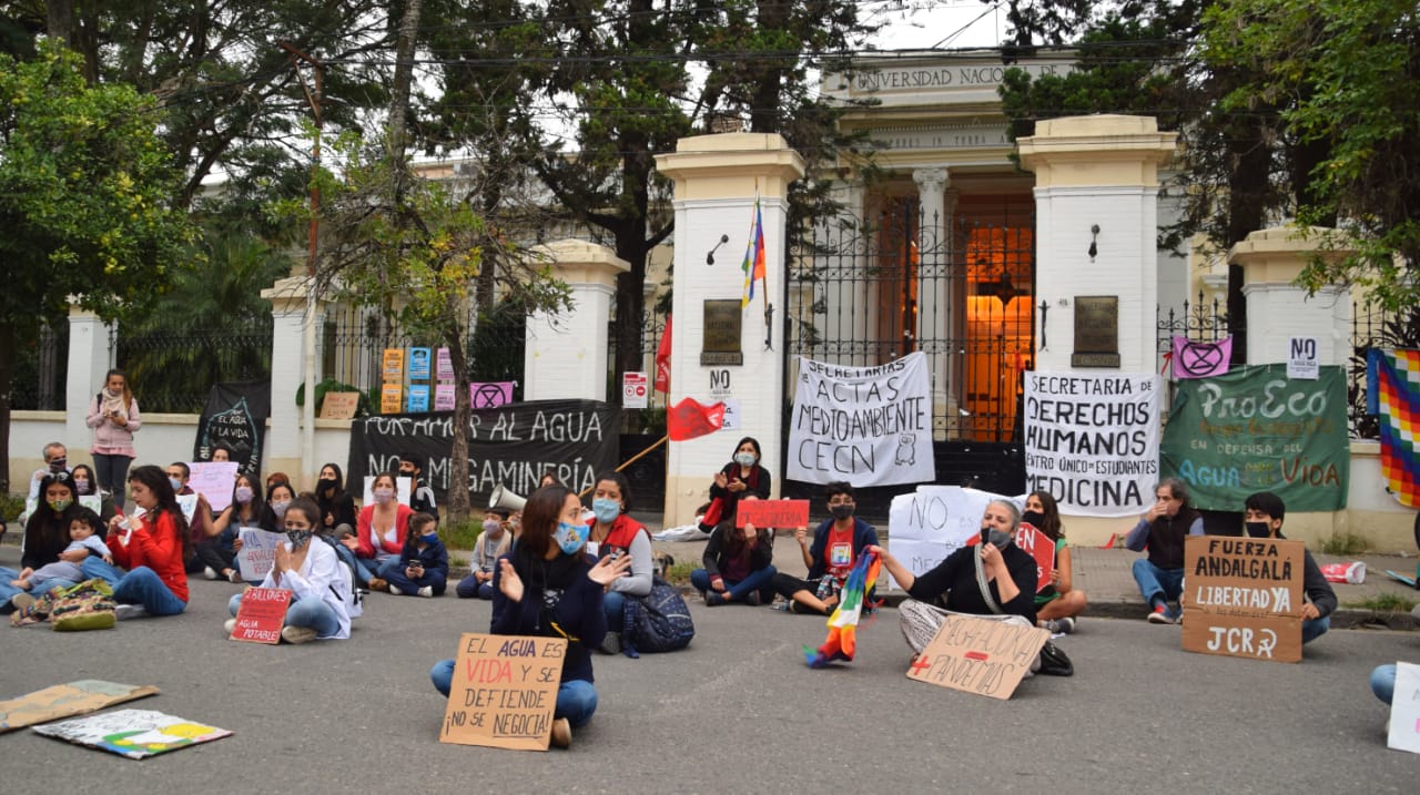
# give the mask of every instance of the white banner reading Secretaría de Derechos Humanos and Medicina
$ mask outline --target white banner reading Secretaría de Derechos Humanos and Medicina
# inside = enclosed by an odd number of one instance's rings
[[[1159,481],[1159,376],[1025,375],[1025,490],[1062,514],[1133,517]]]

